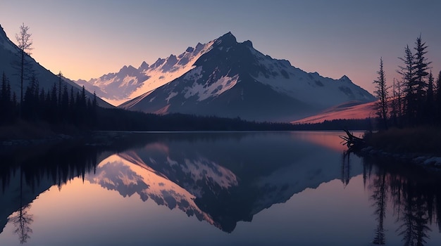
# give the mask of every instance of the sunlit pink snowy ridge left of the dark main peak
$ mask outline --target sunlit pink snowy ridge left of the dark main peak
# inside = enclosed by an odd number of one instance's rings
[[[181,77],[194,67],[193,63],[209,51],[212,44],[213,42],[199,43],[194,48],[188,47],[179,56],[172,54],[166,59],[159,58],[152,65],[143,62],[138,68],[131,65],[124,66],[119,72],[109,73],[98,79],[89,81],[79,79],[77,84],[84,85],[87,89],[94,89],[97,91],[97,96],[108,103],[120,105]]]

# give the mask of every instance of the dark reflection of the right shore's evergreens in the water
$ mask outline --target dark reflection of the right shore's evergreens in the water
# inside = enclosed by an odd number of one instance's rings
[[[387,202],[393,207],[397,233],[404,245],[425,245],[430,224],[441,228],[441,181],[438,174],[406,164],[364,160],[368,172],[368,189],[378,221],[374,244],[385,244],[384,219]],[[435,221],[436,219],[436,221]]]

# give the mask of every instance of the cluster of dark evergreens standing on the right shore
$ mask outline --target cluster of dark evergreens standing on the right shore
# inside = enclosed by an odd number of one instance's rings
[[[376,115],[379,129],[388,127],[418,127],[441,124],[441,71],[435,82],[430,62],[426,57],[428,46],[421,35],[416,39],[413,51],[407,45],[404,56],[399,57],[402,65],[397,73],[401,79],[393,79],[387,86],[380,58],[378,78],[374,80]]]

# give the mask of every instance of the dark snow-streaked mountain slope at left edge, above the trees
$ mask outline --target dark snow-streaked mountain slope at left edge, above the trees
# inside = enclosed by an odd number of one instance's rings
[[[25,56],[26,69],[33,71],[35,77],[39,82],[39,89],[49,91],[54,84],[58,85],[59,78],[53,72],[47,70],[42,65],[37,63],[31,56]],[[20,101],[20,49],[18,46],[8,39],[3,27],[0,25],[0,75],[4,72],[9,82],[11,83],[11,92],[15,92],[18,101]],[[29,72],[27,72],[29,74]],[[23,93],[25,93],[30,79],[23,81]],[[63,84],[66,84],[68,91],[73,87],[74,91],[80,91],[82,88],[70,79],[63,77]],[[86,91],[86,96],[92,98],[93,94]],[[112,105],[97,98],[98,105],[105,108],[113,108]]]

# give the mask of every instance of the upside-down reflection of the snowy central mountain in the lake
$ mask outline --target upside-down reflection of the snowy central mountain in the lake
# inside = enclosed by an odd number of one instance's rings
[[[182,141],[185,135],[192,141]],[[150,198],[232,232],[237,221],[251,221],[294,193],[338,178],[327,167],[328,150],[289,134],[218,136],[169,134],[111,155],[85,179],[123,196],[137,193],[143,201]]]

